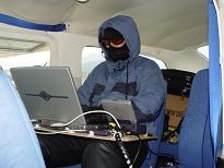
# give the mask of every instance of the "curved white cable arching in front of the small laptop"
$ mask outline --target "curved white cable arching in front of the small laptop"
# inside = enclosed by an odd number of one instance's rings
[[[54,124],[52,123],[50,127],[55,127],[55,128],[57,128],[57,127],[58,128],[59,127],[67,127],[67,125],[71,124],[72,122],[74,122],[75,120],[78,120],[79,118],[81,118],[81,117],[83,117],[85,115],[90,115],[90,113],[106,113],[106,115],[109,115],[115,120],[117,127],[119,129],[121,129],[121,127],[120,127],[119,122],[117,121],[117,119],[110,112],[104,111],[104,110],[87,111],[87,112],[84,112],[84,113],[81,113],[81,115],[76,116],[75,118],[73,118],[71,121],[69,121],[67,123],[59,123],[59,124],[57,124],[57,123]]]

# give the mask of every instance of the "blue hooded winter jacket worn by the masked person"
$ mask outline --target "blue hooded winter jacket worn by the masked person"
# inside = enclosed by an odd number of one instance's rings
[[[104,52],[106,61],[98,64],[78,89],[80,101],[86,106],[101,106],[102,99],[127,98],[132,101],[138,121],[146,124],[148,132],[161,137],[166,95],[161,70],[154,61],[139,56],[140,35],[131,17],[118,15],[101,25],[98,43],[102,48],[101,39],[107,27],[115,28],[123,36],[130,57],[126,61],[113,62]],[[154,152],[157,142],[151,144]]]

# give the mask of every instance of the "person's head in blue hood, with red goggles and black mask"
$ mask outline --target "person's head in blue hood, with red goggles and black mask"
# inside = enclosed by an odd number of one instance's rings
[[[114,41],[107,46],[105,39]],[[108,61],[132,61],[140,53],[140,36],[134,21],[123,15],[105,21],[98,29],[98,44]]]

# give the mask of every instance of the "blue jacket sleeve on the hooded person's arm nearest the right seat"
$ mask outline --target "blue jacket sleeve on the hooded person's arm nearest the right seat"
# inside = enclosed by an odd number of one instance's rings
[[[141,72],[141,73],[140,73]],[[131,98],[139,122],[154,121],[162,111],[166,82],[153,61],[142,61],[137,72],[138,95]]]

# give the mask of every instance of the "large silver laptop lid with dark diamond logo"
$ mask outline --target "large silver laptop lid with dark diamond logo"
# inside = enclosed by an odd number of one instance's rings
[[[67,123],[82,113],[68,67],[12,68],[12,77],[31,119],[45,124]],[[73,125],[83,125],[81,117]]]

